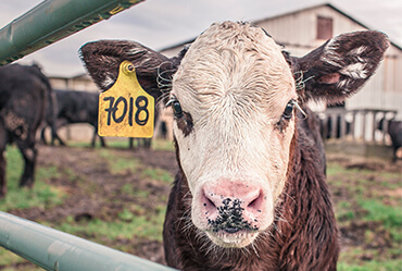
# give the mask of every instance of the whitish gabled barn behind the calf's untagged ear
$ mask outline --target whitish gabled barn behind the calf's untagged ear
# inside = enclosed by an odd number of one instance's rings
[[[325,40],[341,33],[375,29],[330,3],[292,10],[253,23],[266,29],[278,44],[297,57],[304,56]],[[325,122],[328,121],[328,115],[341,120],[340,123],[331,124],[334,128],[343,127],[338,133],[346,134],[346,126],[350,123],[354,127],[353,138],[384,140],[384,136],[376,132],[376,123],[384,116],[402,119],[402,77],[398,76],[402,74],[402,48],[392,42],[392,37],[390,38],[391,46],[385,60],[359,94],[348,99],[346,103],[336,104],[331,109],[327,109],[325,104],[312,104],[315,111],[322,112],[321,118]],[[185,44],[190,44],[192,40],[165,48],[162,52],[168,57],[176,56]],[[163,120],[169,122],[169,118],[167,112]]]

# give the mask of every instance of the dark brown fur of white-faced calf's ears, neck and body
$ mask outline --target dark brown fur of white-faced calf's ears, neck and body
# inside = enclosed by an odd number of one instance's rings
[[[222,27],[234,24],[223,23]],[[284,52],[294,74],[298,103],[303,106],[312,99],[338,102],[356,93],[373,75],[388,46],[385,34],[357,32],[330,39],[303,58]],[[179,69],[185,52],[167,59],[137,42],[121,40],[101,40],[81,48],[83,60],[102,90],[114,83],[118,64],[129,60],[145,89],[162,99],[166,99],[168,86],[162,84],[161,87],[156,83],[168,82]],[[206,61],[205,64],[215,63]],[[192,224],[192,195],[180,165],[163,233],[169,266],[183,270],[336,270],[338,230],[325,178],[324,145],[314,114],[306,108],[303,110],[307,119],[297,118],[286,186],[275,202],[274,223],[246,248],[218,247]],[[192,124],[192,120],[186,118],[186,122],[178,121],[177,125],[188,135],[192,131],[189,123]],[[177,144],[176,153],[180,161]]]

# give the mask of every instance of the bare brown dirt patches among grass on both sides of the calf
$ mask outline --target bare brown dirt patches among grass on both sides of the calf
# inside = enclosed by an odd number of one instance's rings
[[[128,150],[128,149],[114,149],[113,152],[116,156],[128,157],[133,159],[139,159],[142,164],[151,168],[159,168],[168,171],[172,175],[175,174],[177,163],[173,151],[163,150]],[[387,172],[401,172],[402,163],[391,164],[389,162],[373,161],[367,162],[365,160],[353,160],[342,156],[329,156],[329,161],[336,161],[344,168],[355,169],[368,169],[375,171],[387,171]],[[127,183],[136,183],[137,187],[150,190],[150,197],[159,197],[159,195],[168,195],[171,184],[161,184],[149,178],[141,178],[139,176],[133,176],[129,171],[123,171],[120,173],[112,173],[108,170],[106,161],[103,157],[99,156],[99,152],[91,148],[74,148],[74,147],[48,147],[39,146],[39,165],[56,165],[58,168],[71,170],[77,175],[85,176],[87,182],[92,182],[95,185],[90,186],[93,189],[88,193],[86,189],[72,183],[71,180],[63,178],[63,174],[60,177],[51,180],[52,184],[56,184],[67,193],[68,197],[65,199],[63,205],[55,206],[51,209],[30,208],[26,210],[14,210],[12,213],[26,218],[34,221],[52,221],[56,223],[62,221],[66,217],[73,217],[76,221],[78,220],[90,220],[99,218],[105,221],[112,221],[116,213],[122,211],[124,205],[122,200],[130,200],[131,204],[142,205],[147,208],[147,205],[152,200],[136,201],[133,198],[124,199],[118,195],[118,189]],[[339,189],[339,188],[337,188]],[[332,200],[342,200],[346,194],[342,190],[332,190]],[[402,196],[401,190],[394,190]],[[347,227],[341,227],[341,244],[342,249],[348,246],[356,246],[363,244],[362,236],[367,229],[377,227],[373,223],[352,223]],[[377,243],[375,245],[379,248],[389,246],[389,236],[378,234]],[[127,239],[116,241],[114,244],[108,244],[110,246],[118,246],[118,242],[126,243]],[[162,243],[148,239],[136,239],[133,241],[133,249],[129,252],[139,257],[164,263]],[[369,256],[367,256],[369,257]]]

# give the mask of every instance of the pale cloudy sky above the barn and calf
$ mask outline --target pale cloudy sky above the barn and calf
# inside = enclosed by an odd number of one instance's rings
[[[0,28],[41,0],[0,0]],[[18,62],[38,62],[49,76],[85,73],[79,48],[99,39],[129,39],[160,50],[194,38],[213,22],[254,21],[315,5],[323,0],[146,0],[109,20],[34,52]],[[402,45],[401,0],[332,0],[339,10]],[[269,30],[269,29],[267,29]],[[275,38],[275,37],[274,37]]]

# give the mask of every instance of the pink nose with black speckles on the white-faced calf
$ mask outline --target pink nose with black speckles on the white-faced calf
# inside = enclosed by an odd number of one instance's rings
[[[201,205],[212,231],[236,233],[257,230],[264,215],[264,195],[260,186],[222,181],[218,186],[205,185]]]

